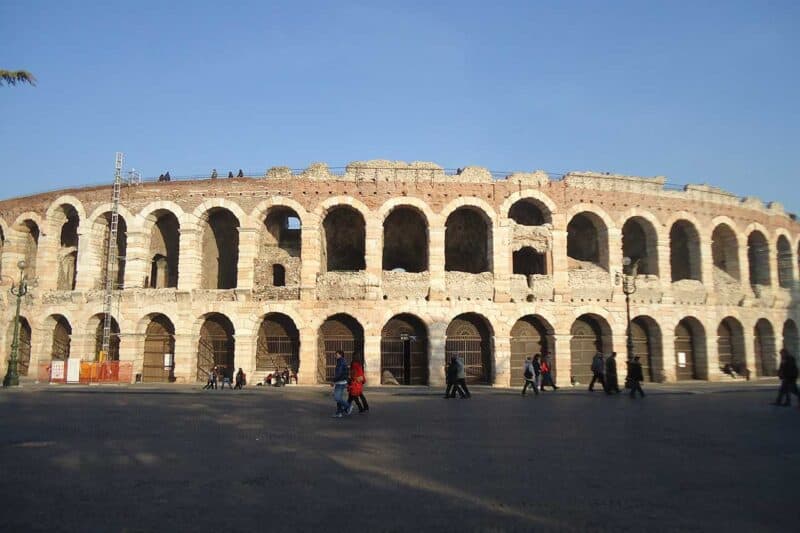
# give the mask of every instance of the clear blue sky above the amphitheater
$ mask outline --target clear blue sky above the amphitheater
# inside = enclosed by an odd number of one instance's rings
[[[0,0],[0,198],[323,161],[597,170],[800,211],[800,2]]]

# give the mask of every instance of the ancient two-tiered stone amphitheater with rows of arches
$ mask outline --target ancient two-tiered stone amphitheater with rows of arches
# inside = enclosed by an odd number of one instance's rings
[[[458,353],[471,382],[509,386],[547,351],[569,386],[588,381],[596,350],[624,360],[626,297],[648,380],[731,379],[726,365],[771,376],[778,350],[797,352],[800,225],[707,185],[275,167],[125,184],[116,239],[111,200],[109,184],[0,202],[4,372],[21,260],[36,281],[21,303],[23,382],[98,358],[107,254],[107,359],[130,368],[124,381],[204,382],[220,365],[314,384],[343,349],[375,385],[440,385]]]

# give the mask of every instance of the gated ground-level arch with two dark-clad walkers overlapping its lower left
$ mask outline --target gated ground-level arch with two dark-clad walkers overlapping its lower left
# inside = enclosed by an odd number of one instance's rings
[[[445,361],[461,357],[467,383],[492,383],[492,331],[486,319],[476,313],[455,317],[445,333]]]

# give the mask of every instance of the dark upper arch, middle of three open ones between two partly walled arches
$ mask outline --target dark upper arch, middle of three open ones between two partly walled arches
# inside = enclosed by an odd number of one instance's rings
[[[428,270],[428,222],[417,209],[400,206],[383,221],[383,270]]]

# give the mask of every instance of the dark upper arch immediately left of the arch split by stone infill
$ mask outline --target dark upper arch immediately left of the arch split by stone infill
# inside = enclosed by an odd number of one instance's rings
[[[492,228],[486,213],[459,207],[447,217],[444,230],[444,269],[480,274],[492,271]]]

